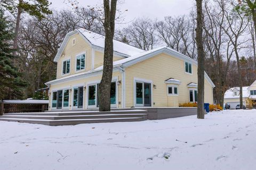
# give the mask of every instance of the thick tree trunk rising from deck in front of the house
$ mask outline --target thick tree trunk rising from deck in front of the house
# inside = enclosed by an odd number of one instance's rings
[[[104,61],[103,72],[101,82],[99,84],[99,111],[110,111],[110,88],[113,73],[113,38],[115,33],[115,16],[116,16],[116,2],[111,1],[111,7],[109,6],[109,0],[104,0],[104,13],[105,13],[105,49],[104,49]]]

